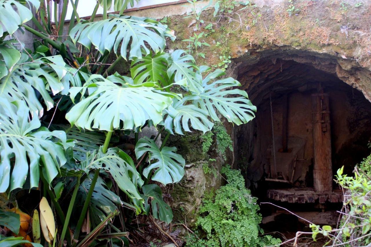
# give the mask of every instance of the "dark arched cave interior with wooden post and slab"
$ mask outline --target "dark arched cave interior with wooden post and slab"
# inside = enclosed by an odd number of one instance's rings
[[[343,194],[334,175],[342,166],[352,174],[370,154],[371,102],[339,79],[336,66],[331,57],[295,52],[237,61],[257,112],[234,128],[236,166],[260,202],[315,224],[336,224]],[[287,214],[270,204],[261,208],[267,224]]]

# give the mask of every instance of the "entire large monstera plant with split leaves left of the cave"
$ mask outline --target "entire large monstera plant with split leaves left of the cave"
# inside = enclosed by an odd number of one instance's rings
[[[0,3],[0,192],[11,199],[40,190],[58,216],[49,244],[88,246],[115,215],[121,224],[103,239],[125,237],[124,208],[169,223],[160,185],[179,182],[185,166],[166,146],[169,135],[205,133],[220,117],[236,125],[254,117],[239,82],[198,67],[184,50],[166,52],[166,39],[175,39],[166,25],[123,15],[133,3],[99,0],[89,19],[79,18],[78,0],[64,0],[60,15],[50,13],[51,1]],[[66,24],[68,4],[76,22]],[[99,4],[104,14],[96,20]],[[109,6],[119,13],[107,14]],[[32,50],[19,30],[36,37]],[[131,76],[112,73],[124,60]],[[145,126],[157,136],[138,139]],[[84,222],[93,227],[86,237]],[[9,246],[19,241],[0,238]]]

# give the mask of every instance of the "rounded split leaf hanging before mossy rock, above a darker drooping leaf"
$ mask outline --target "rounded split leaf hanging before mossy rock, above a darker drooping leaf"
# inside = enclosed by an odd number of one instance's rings
[[[145,152],[149,152],[150,161],[156,160],[144,168],[143,175],[148,178],[152,169],[156,169],[151,179],[165,185],[179,182],[184,175],[185,160],[181,155],[176,154],[176,151],[177,148],[168,146],[164,146],[160,150],[156,143],[148,137],[141,138],[135,145],[137,159]]]

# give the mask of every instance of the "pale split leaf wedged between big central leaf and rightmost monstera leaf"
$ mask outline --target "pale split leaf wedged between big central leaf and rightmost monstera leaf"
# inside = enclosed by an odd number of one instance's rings
[[[188,126],[189,123],[193,129],[203,133],[210,131],[214,125],[207,118],[208,111],[198,108],[197,105],[185,105],[183,100],[173,99],[173,104],[165,111],[168,113],[165,119],[165,129],[171,134],[175,132],[183,135],[182,129],[192,132]]]

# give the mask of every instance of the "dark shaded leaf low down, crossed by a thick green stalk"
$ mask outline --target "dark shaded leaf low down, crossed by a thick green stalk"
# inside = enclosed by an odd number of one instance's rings
[[[91,186],[93,173],[89,174],[89,178],[85,179],[79,187],[76,197],[76,203],[81,207],[86,200],[86,195]],[[114,192],[108,190],[106,183],[101,177],[98,177],[94,191],[90,200],[89,215],[93,226],[102,222],[110,213],[117,209],[117,205],[122,206],[121,199]],[[77,210],[79,212],[79,210]]]

